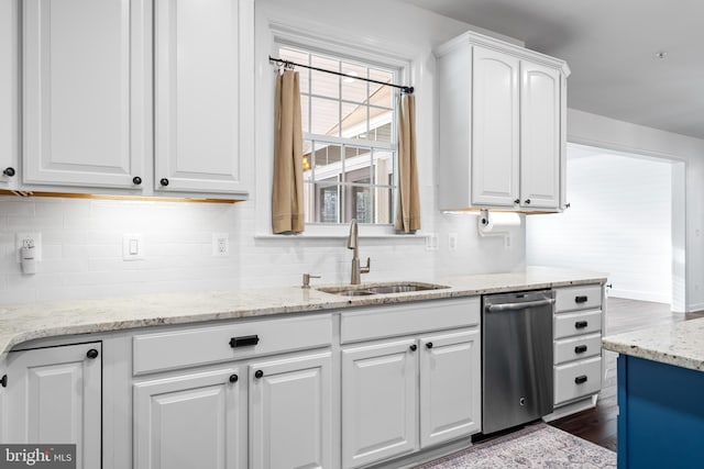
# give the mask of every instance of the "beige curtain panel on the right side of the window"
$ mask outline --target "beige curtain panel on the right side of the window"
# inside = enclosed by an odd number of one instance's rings
[[[398,103],[398,205],[396,230],[420,230],[420,197],[416,163],[416,97],[402,94]]]

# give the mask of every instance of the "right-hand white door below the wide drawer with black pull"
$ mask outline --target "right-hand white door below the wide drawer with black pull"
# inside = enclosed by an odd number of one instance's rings
[[[329,351],[250,366],[250,464],[260,469],[329,468]]]

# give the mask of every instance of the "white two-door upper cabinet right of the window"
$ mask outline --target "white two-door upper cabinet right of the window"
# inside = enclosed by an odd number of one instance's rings
[[[436,56],[440,208],[562,210],[566,64],[475,33]]]

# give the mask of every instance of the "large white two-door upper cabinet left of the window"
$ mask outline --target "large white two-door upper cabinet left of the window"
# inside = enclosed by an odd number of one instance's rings
[[[0,46],[0,102],[22,77],[16,189],[246,198],[253,0],[19,4],[1,20],[15,49]]]

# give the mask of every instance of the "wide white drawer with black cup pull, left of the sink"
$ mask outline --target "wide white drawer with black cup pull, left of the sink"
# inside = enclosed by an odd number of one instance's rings
[[[324,347],[331,342],[332,319],[329,314],[141,334],[132,342],[133,372],[143,375]]]

